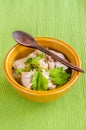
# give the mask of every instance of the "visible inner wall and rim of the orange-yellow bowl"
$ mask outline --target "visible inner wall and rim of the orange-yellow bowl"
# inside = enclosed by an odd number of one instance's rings
[[[78,67],[81,67],[80,59],[77,55],[77,53],[74,51],[72,47],[70,47],[68,44],[57,40],[53,38],[36,38],[36,41],[39,45],[44,46],[46,48],[51,48],[56,51],[60,51],[63,53],[73,64],[77,65]],[[13,78],[12,75],[12,64],[15,60],[26,57],[29,53],[31,53],[34,49],[28,48],[25,46],[22,46],[20,44],[16,44],[13,48],[10,49],[10,51],[7,53],[5,60],[4,60],[4,71],[7,79],[9,82],[17,89],[20,89],[21,91],[25,91],[27,93],[33,93],[33,94],[51,94],[51,93],[59,93],[61,91],[64,91],[68,88],[70,88],[77,78],[79,77],[79,72],[73,71],[71,79],[68,83],[63,85],[62,87],[59,87],[55,90],[50,91],[34,91],[34,90],[28,90],[27,88],[24,88],[22,85],[18,84],[17,81]]]

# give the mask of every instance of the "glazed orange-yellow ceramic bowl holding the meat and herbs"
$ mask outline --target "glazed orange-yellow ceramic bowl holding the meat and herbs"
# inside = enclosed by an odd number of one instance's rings
[[[75,50],[68,44],[53,38],[38,37],[35,40],[44,47],[52,48],[62,52],[73,64],[81,67],[79,56]],[[6,54],[4,59],[4,72],[7,80],[12,84],[13,88],[19,95],[36,102],[48,102],[61,97],[65,94],[72,85],[77,81],[80,73],[72,71],[70,80],[63,86],[50,91],[35,91],[29,90],[20,85],[12,75],[12,64],[15,60],[23,58],[31,53],[34,49],[16,44]]]

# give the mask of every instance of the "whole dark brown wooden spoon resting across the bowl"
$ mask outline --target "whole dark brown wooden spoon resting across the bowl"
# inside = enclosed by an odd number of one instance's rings
[[[36,48],[36,49],[46,53],[47,55],[51,56],[54,60],[56,60],[56,61],[58,60],[62,64],[70,67],[71,69],[84,73],[83,69],[75,66],[74,64],[68,62],[67,60],[62,59],[61,57],[59,57],[56,54],[47,50],[46,48],[40,46],[30,34],[28,34],[26,32],[22,32],[22,31],[15,31],[12,33],[12,35],[13,35],[14,40],[16,42],[22,44],[23,46]]]

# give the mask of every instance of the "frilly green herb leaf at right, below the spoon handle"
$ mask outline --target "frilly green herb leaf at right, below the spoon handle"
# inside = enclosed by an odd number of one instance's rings
[[[70,74],[64,71],[62,67],[50,70],[50,78],[54,84],[63,85],[68,81],[69,77]]]

